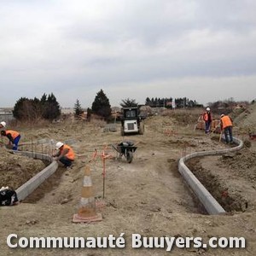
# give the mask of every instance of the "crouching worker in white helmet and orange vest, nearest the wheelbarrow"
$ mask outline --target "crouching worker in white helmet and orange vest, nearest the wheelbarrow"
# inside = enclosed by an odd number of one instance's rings
[[[73,160],[75,158],[73,148],[67,144],[58,142],[56,143],[56,150],[58,151],[53,154],[54,160],[59,160],[67,169],[69,169],[73,165]]]

